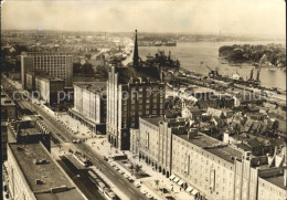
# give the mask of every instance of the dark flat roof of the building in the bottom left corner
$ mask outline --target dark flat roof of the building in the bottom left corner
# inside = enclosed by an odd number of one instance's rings
[[[52,193],[52,188],[66,186],[71,190],[75,190],[75,185],[67,179],[66,175],[60,169],[60,167],[54,162],[51,155],[40,143],[38,144],[9,144],[14,158],[21,168],[23,175],[25,176],[26,182],[29,183],[31,190],[36,197],[51,196],[54,197],[56,192]],[[36,165],[34,161],[36,159],[45,159],[45,164]],[[43,181],[42,185],[36,185],[36,179]],[[83,199],[79,192],[72,192],[71,190],[62,191],[61,199]],[[43,194],[46,191],[50,193]],[[42,193],[42,194],[41,194]],[[47,199],[53,199],[53,198]],[[40,198],[46,199],[46,198]]]

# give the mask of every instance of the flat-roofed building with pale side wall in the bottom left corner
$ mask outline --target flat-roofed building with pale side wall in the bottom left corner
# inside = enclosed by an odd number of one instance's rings
[[[9,144],[7,170],[14,200],[87,199],[41,143]]]

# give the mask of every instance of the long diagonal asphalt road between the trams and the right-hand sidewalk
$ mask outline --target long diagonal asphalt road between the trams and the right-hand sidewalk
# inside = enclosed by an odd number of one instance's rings
[[[4,85],[4,88],[8,87],[9,83],[6,78],[2,77],[2,85]],[[10,86],[10,92],[17,91],[15,87]],[[25,107],[28,109],[32,109],[36,112],[39,115],[43,117],[43,122],[45,125],[47,125],[47,128],[52,131],[53,136],[57,139],[61,138],[62,141],[70,141],[72,143],[73,139],[76,139],[76,137],[73,136],[73,134],[67,130],[60,122],[57,122],[54,117],[52,117],[50,114],[46,113],[46,110],[43,110],[42,107],[31,104],[31,102],[25,99],[18,101],[18,104],[20,104],[22,107]],[[103,156],[92,150],[89,146],[86,144],[71,144],[74,146],[78,151],[84,152],[88,158],[91,158],[91,161],[94,164],[94,166],[97,166],[102,172],[116,186],[118,187],[121,192],[124,192],[126,196],[129,197],[130,200],[144,200],[148,199],[146,196],[144,196],[131,182],[129,182],[123,175],[120,175],[117,170],[115,170],[107,161],[103,159]]]

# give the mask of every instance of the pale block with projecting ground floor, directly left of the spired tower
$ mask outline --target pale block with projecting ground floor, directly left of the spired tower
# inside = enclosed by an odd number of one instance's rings
[[[93,131],[106,133],[106,82],[74,84],[74,107],[68,114]]]

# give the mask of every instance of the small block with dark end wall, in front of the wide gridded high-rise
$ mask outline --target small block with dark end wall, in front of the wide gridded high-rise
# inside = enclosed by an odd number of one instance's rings
[[[64,91],[64,81],[51,76],[35,76],[35,91],[40,97],[49,105],[60,103],[60,95]]]

